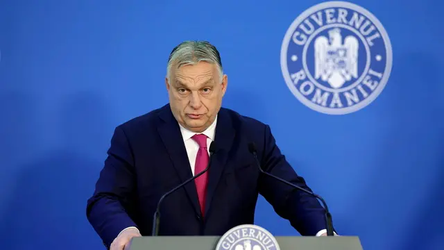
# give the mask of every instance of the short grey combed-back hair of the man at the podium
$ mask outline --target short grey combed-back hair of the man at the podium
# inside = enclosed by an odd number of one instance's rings
[[[172,67],[194,65],[201,61],[216,64],[219,69],[219,81],[222,82],[223,68],[221,55],[214,45],[207,41],[185,41],[171,51],[168,58],[167,78],[170,79]]]

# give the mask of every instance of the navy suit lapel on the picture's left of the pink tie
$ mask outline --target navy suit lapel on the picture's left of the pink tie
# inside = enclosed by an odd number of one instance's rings
[[[162,122],[157,125],[157,131],[167,148],[173,166],[180,177],[180,181],[183,183],[191,178],[193,174],[191,172],[191,166],[189,165],[187,149],[185,149],[182,134],[180,133],[180,127],[174,118],[173,113],[171,113],[169,105],[164,106],[164,108],[160,110],[159,116],[162,119]],[[194,181],[187,183],[184,188],[194,210],[200,215],[200,205]]]

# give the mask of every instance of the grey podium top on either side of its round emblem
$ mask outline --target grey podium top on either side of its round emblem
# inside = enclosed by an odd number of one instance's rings
[[[221,236],[144,236],[133,238],[128,249],[215,250],[220,238]],[[357,236],[281,236],[275,239],[280,250],[362,250]]]

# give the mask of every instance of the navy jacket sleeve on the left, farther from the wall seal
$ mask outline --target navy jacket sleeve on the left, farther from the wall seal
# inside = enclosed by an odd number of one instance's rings
[[[128,215],[134,207],[134,191],[133,153],[122,128],[117,127],[86,211],[89,223],[108,248],[124,228],[137,226]]]

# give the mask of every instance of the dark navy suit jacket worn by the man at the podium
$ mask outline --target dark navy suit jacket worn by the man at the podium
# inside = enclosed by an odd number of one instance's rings
[[[314,197],[259,174],[249,142],[256,144],[264,170],[309,189],[281,154],[269,126],[221,108],[215,142],[205,218],[190,182],[164,199],[160,235],[223,235],[234,226],[253,224],[258,194],[301,235],[325,228],[323,207]],[[129,226],[151,235],[157,201],[191,175],[180,127],[167,104],[117,126],[94,195],[87,201],[87,218],[108,247]]]

